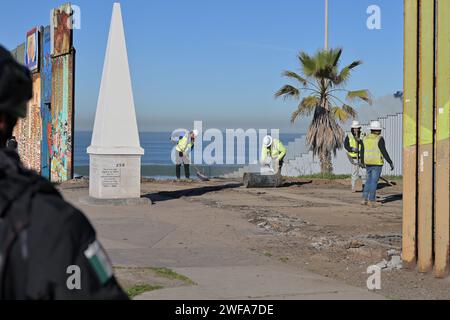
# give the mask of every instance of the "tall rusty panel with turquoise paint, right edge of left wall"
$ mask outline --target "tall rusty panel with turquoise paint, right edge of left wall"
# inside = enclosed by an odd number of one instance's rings
[[[50,150],[53,182],[73,177],[74,62],[75,52],[53,59]]]

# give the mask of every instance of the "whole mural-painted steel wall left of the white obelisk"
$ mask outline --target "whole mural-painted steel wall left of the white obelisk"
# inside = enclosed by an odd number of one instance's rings
[[[50,25],[26,33],[12,51],[32,72],[33,98],[14,135],[27,168],[52,182],[73,178],[75,49],[70,4],[52,10]]]

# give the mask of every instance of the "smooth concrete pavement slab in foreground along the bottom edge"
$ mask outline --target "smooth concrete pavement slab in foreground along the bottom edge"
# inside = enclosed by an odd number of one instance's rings
[[[367,290],[283,266],[176,268],[175,271],[188,276],[198,287],[153,291],[138,299],[384,299]]]

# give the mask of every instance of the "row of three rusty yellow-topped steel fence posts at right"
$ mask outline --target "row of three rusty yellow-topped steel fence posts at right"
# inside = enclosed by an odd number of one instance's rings
[[[450,1],[404,0],[403,260],[449,274]]]

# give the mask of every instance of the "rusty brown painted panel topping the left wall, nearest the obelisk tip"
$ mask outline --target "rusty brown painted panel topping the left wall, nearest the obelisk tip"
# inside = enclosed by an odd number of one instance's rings
[[[52,11],[52,54],[70,53],[72,49],[72,6],[64,4]]]

